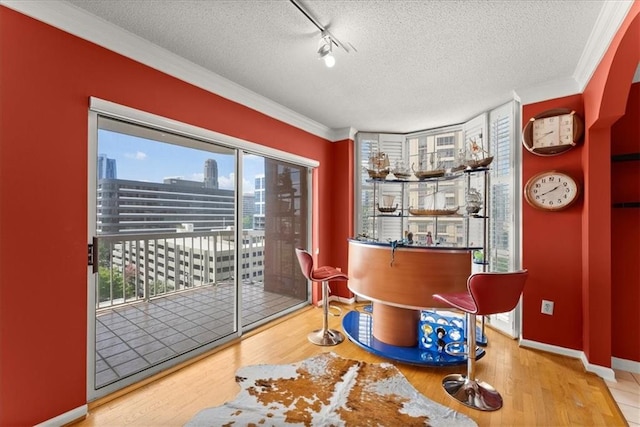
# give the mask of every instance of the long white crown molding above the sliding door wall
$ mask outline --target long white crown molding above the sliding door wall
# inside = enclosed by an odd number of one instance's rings
[[[0,0],[0,4],[127,58],[330,141],[341,134],[148,40],[59,0]]]

